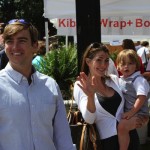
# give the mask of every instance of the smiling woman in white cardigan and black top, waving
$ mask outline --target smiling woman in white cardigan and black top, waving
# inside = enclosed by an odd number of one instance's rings
[[[119,78],[107,74],[109,50],[102,43],[90,44],[84,52],[81,72],[74,84],[74,99],[85,122],[96,124],[103,150],[119,150],[117,125],[124,113]],[[140,126],[140,119],[137,120]],[[129,150],[138,150],[136,130],[130,132]]]

